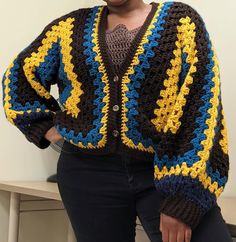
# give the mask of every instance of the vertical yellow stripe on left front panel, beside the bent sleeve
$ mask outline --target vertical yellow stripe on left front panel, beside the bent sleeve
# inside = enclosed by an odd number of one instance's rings
[[[64,64],[64,71],[68,80],[71,82],[72,90],[71,95],[65,102],[66,113],[70,114],[73,118],[77,118],[80,112],[78,103],[80,102],[80,96],[84,93],[81,89],[82,83],[78,80],[78,75],[73,71],[74,65],[72,64],[72,34],[73,34],[73,22],[74,18],[67,18],[66,21],[60,23],[60,46],[62,52],[62,62]]]

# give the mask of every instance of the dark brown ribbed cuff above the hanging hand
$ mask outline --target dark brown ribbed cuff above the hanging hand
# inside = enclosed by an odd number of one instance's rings
[[[181,220],[195,229],[205,212],[190,200],[179,195],[171,195],[164,199],[159,212]]]

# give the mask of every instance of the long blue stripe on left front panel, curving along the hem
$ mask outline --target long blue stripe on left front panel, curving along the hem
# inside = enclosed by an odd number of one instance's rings
[[[93,32],[93,24],[95,22],[98,10],[99,6],[95,6],[91,9],[91,12],[89,13],[89,17],[87,18],[87,22],[85,24],[86,28],[84,30],[84,39],[86,41],[83,43],[83,46],[86,47],[84,50],[84,54],[87,56],[86,64],[90,66],[89,74],[91,78],[94,79],[94,86],[97,87],[97,89],[95,90],[95,95],[97,96],[97,98],[93,102],[94,106],[96,107],[93,110],[93,114],[97,117],[93,121],[95,127],[92,130],[90,130],[85,137],[83,137],[82,132],[75,134],[75,132],[71,130],[68,133],[65,128],[61,129],[60,131],[62,135],[65,136],[67,139],[72,139],[75,143],[81,142],[84,146],[87,146],[88,143],[91,143],[92,145],[96,146],[98,142],[102,139],[102,134],[99,131],[103,125],[101,120],[104,115],[102,113],[102,108],[104,107],[105,103],[102,101],[102,99],[105,96],[105,93],[103,92],[105,83],[101,81],[102,73],[98,71],[100,64],[99,62],[95,61],[95,57],[97,54],[93,51],[93,47],[95,46],[95,44],[92,42],[93,37],[91,34]]]

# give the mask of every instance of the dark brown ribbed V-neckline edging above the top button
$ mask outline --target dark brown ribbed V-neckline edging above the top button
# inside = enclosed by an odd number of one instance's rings
[[[126,53],[126,57],[122,61],[122,64],[118,72],[115,71],[112,59],[108,53],[108,46],[106,43],[106,26],[107,26],[107,15],[108,15],[109,9],[107,5],[103,6],[101,16],[98,22],[98,42],[99,42],[99,47],[100,47],[101,56],[104,62],[104,66],[108,73],[108,77],[113,78],[115,75],[117,75],[119,78],[122,78],[123,75],[129,69],[129,67],[131,66],[132,59],[134,58],[135,53],[142,41],[142,38],[157,11],[158,3],[151,2],[150,5],[152,6],[152,8],[148,13],[148,15],[146,16],[143,25],[141,25],[135,37],[131,41],[130,47]]]

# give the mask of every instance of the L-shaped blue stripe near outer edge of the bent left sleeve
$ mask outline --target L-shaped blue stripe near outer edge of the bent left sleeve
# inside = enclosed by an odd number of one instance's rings
[[[16,58],[14,63],[13,63],[13,67],[10,69],[10,75],[9,75],[9,79],[10,79],[9,95],[11,97],[11,100],[9,102],[12,105],[11,109],[13,109],[15,111],[24,111],[24,112],[26,112],[27,110],[32,110],[32,112],[36,112],[37,108],[40,108],[42,112],[45,109],[48,109],[45,104],[41,104],[39,101],[34,101],[33,104],[26,102],[24,106],[16,101],[17,94],[15,93],[15,91],[18,88],[17,85],[18,85],[18,82],[19,82],[19,79],[18,79],[19,78],[18,77],[19,69],[20,69],[20,65],[18,63],[18,58]]]

